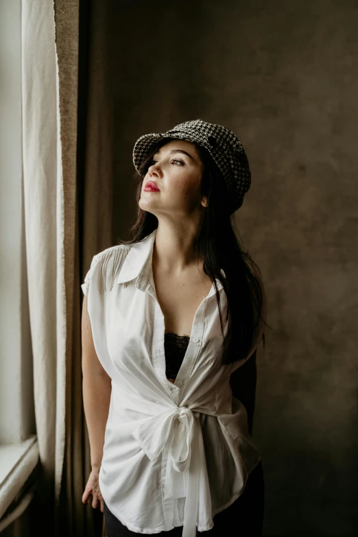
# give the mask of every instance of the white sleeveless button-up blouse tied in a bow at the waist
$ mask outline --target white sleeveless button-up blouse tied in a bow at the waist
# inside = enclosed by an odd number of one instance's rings
[[[254,353],[264,324],[248,357],[222,366],[213,285],[195,313],[171,383],[152,272],[155,237],[156,230],[140,243],[99,252],[81,286],[95,350],[112,379],[99,486],[110,511],[132,532],[183,526],[183,537],[195,537],[196,527],[211,529],[213,516],[242,494],[260,461],[230,374]],[[217,285],[225,320],[226,294],[218,279]]]

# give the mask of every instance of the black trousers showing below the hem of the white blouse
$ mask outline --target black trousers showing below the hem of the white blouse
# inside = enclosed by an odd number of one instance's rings
[[[263,466],[259,464],[252,470],[248,477],[243,493],[228,508],[215,514],[214,527],[207,532],[197,532],[197,536],[207,537],[262,537],[264,516],[265,482],[263,478]],[[106,522],[107,537],[130,537],[138,535],[131,532],[115,517],[104,503],[104,518]],[[171,537],[182,536],[182,526],[174,527],[169,532],[159,534],[171,534]],[[148,534],[147,534],[148,535]],[[154,535],[154,534],[152,534]]]

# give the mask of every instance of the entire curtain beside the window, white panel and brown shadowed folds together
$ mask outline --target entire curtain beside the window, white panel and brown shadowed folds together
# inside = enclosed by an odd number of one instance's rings
[[[112,244],[110,3],[23,1],[23,167],[36,431],[31,534],[102,535],[82,504],[90,472],[82,405],[80,284]]]

